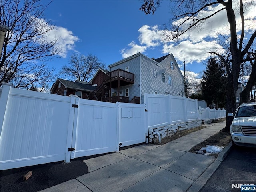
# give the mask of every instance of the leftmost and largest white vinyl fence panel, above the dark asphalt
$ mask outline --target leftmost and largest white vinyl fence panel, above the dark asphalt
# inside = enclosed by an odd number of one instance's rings
[[[1,170],[65,160],[71,98],[16,88],[8,94]]]

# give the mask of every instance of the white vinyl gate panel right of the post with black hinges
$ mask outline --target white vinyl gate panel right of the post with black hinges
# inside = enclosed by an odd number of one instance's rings
[[[118,151],[117,104],[79,99],[75,157]]]

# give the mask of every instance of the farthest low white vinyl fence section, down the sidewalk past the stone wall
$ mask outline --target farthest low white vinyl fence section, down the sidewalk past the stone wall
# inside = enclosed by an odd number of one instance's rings
[[[210,109],[209,107],[204,109],[199,106],[199,118],[201,120],[225,118],[226,111],[226,109]]]

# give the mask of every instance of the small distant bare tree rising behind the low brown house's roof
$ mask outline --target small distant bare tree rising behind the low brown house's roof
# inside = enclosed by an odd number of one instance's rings
[[[69,65],[65,65],[60,70],[60,75],[70,80],[88,82],[99,68],[106,68],[97,56],[73,54],[69,59]]]

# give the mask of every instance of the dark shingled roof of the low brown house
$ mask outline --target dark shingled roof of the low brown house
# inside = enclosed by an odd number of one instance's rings
[[[58,86],[58,82],[61,82],[65,86],[65,88],[70,88],[70,89],[75,89],[75,90],[80,90],[80,91],[92,92],[93,90],[95,90],[97,88],[96,86],[88,85],[85,83],[80,83],[77,81],[74,82],[74,81],[69,81],[69,80],[58,78],[56,80],[56,82],[53,84],[53,86],[51,88],[51,92],[52,92],[52,90],[54,90],[54,88],[56,86]]]

